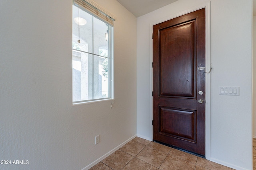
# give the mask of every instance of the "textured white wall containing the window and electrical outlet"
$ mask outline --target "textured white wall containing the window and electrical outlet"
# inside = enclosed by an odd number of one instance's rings
[[[29,161],[0,169],[88,169],[136,136],[136,17],[95,2],[116,16],[112,109],[72,106],[72,0],[0,2],[0,158]]]

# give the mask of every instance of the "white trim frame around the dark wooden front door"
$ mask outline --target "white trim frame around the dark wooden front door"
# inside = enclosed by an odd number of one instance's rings
[[[178,16],[182,16],[184,14],[188,14],[190,12],[196,11],[196,10],[200,10],[202,8],[205,8],[205,18],[206,18],[206,28],[205,28],[205,35],[206,35],[206,40],[205,40],[205,68],[206,71],[210,70],[211,67],[211,21],[210,21],[210,14],[211,14],[211,2],[207,2],[206,4],[202,4],[200,6],[195,6],[193,8],[190,8],[188,10],[184,10],[183,12],[174,14],[173,16],[168,16],[166,18],[162,18],[159,20],[156,20],[154,22],[150,23],[150,28],[149,28],[149,37],[150,37],[150,48],[149,48],[149,54],[150,54],[150,59],[149,59],[149,64],[150,64],[150,94],[152,93],[153,90],[153,68],[152,68],[152,62],[153,62],[153,40],[152,40],[152,32],[153,32],[153,25],[156,25],[158,23],[164,22],[164,21],[168,21],[171,20],[173,18],[176,18]],[[205,76],[205,85],[206,85],[206,104],[205,104],[205,156],[207,160],[210,160],[210,118],[211,118],[211,98],[210,98],[210,74],[206,74]],[[151,120],[153,120],[153,98],[150,98],[150,118]],[[153,128],[151,129],[151,136],[150,136],[150,140],[153,140]]]

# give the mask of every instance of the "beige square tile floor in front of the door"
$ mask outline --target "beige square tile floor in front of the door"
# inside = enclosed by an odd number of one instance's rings
[[[256,146],[256,140],[254,141]],[[255,149],[253,147],[253,149]],[[256,149],[254,152],[256,158]],[[256,161],[256,160],[255,160]],[[254,161],[254,162],[255,162]],[[255,162],[256,164],[256,162]],[[90,170],[233,170],[204,158],[136,137]]]

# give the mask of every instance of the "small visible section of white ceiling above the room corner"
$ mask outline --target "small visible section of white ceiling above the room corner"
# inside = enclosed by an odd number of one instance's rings
[[[117,0],[134,16],[139,17],[177,0]]]

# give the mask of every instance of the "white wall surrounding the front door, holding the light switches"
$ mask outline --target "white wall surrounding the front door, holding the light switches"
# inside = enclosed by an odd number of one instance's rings
[[[173,18],[208,0],[179,0],[137,18],[137,135],[152,139],[150,23]],[[209,160],[252,169],[252,0],[211,1],[211,109]],[[239,86],[240,96],[220,96]]]

